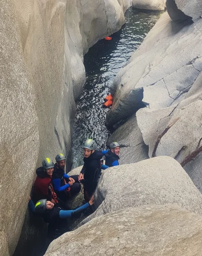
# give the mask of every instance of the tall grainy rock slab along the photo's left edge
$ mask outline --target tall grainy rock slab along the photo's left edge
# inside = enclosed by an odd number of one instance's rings
[[[3,0],[0,10],[0,254],[12,255],[27,209],[39,133],[35,95],[23,58],[14,6]]]

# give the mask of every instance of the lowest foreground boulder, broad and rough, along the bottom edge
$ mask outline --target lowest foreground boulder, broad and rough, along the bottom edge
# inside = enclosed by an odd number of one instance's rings
[[[49,245],[45,256],[199,256],[201,239],[200,215],[172,204],[146,205],[107,213],[65,233]]]

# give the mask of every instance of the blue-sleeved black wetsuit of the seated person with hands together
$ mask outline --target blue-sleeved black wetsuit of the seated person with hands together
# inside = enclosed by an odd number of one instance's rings
[[[68,183],[69,177],[75,180],[72,186],[70,186]],[[70,194],[75,195],[79,193],[80,183],[78,181],[78,177],[79,175],[69,176],[68,174],[64,173],[64,169],[61,169],[60,167],[58,167],[57,164],[54,165],[52,183],[53,183],[55,193],[61,200],[66,201]],[[66,181],[66,184],[65,184],[65,181]],[[68,192],[67,189],[70,189],[70,193]]]

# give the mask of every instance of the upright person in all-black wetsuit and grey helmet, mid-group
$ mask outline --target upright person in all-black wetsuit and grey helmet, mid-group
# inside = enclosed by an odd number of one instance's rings
[[[96,146],[96,142],[92,139],[86,140],[83,146],[84,164],[79,174],[79,181],[83,183],[84,202],[88,202],[94,194],[101,173],[100,159],[103,153],[95,150]]]

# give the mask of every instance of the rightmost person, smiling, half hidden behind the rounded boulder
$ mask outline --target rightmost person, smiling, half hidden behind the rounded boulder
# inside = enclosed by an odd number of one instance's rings
[[[104,150],[105,164],[109,167],[119,165],[120,145],[117,142],[110,144],[110,150]]]

